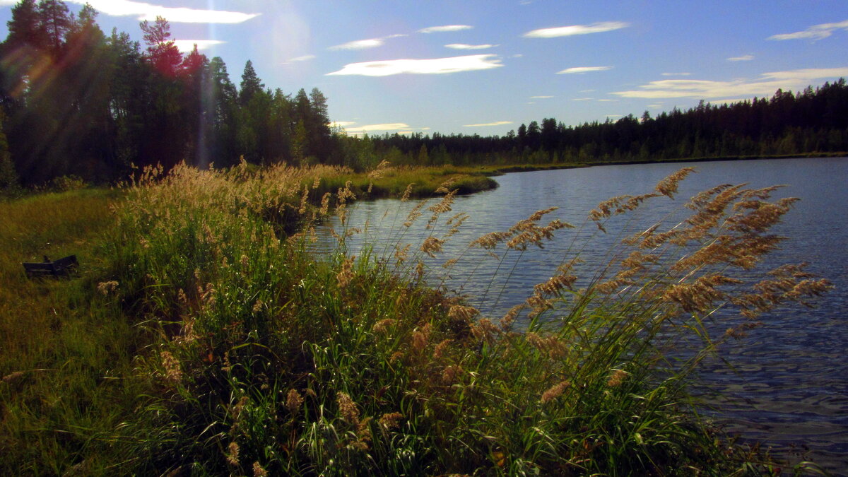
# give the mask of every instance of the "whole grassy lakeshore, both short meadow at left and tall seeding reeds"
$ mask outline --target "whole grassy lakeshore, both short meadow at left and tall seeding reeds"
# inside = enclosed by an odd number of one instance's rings
[[[666,199],[684,175],[606,202],[577,227],[616,233],[616,216]],[[90,265],[80,279],[31,283],[14,272],[17,259],[3,262],[3,280],[25,293],[3,296],[0,469],[775,472],[762,456],[721,441],[694,412],[688,383],[722,341],[756,326],[757,312],[827,289],[797,267],[753,283],[732,277],[778,244],[767,229],[791,201],[772,202],[767,189],[708,191],[690,203],[688,222],[628,232],[628,245],[611,250],[610,266],[586,289],[573,287],[574,250],[504,317],[482,317],[424,279],[432,271],[421,258],[438,256],[460,227],[451,210],[456,182],[432,187],[440,198],[407,217],[430,225],[421,244],[352,257],[344,241],[356,231],[348,228],[336,231],[332,256],[308,252],[309,224],[331,213],[343,219],[369,182],[372,194],[382,187],[404,196],[410,182],[444,177],[435,170],[354,177],[328,167],[180,167],[138,177],[112,199],[114,214],[104,213],[104,192],[3,204],[19,214],[19,225],[0,229],[4,243],[28,244],[20,248],[28,256],[51,241],[56,255],[74,251]],[[57,215],[43,214],[43,229],[25,225],[51,204]],[[567,238],[571,226],[548,220],[554,213],[540,210],[469,246],[502,261]],[[67,248],[53,237],[64,237]],[[681,248],[691,253],[678,260]],[[47,299],[16,296],[26,293]],[[741,314],[726,334],[711,336],[704,320],[718,306]],[[53,341],[40,345],[25,329]],[[683,342],[691,352],[676,361],[669,353]]]

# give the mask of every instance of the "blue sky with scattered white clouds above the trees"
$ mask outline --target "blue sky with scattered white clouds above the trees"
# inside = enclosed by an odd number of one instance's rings
[[[0,0],[0,36],[15,0]],[[85,0],[66,0],[78,11]],[[848,77],[845,0],[88,0],[107,34],[169,20],[241,81],[317,87],[349,134],[504,135]]]

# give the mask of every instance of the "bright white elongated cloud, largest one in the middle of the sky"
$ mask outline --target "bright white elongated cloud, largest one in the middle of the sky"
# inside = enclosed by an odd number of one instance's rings
[[[460,71],[489,70],[503,66],[494,54],[472,54],[453,58],[389,59],[344,65],[327,75],[390,76],[401,74],[438,75]]]

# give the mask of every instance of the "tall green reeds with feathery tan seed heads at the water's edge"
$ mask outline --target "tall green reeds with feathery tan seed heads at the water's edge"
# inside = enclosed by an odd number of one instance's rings
[[[610,216],[671,196],[686,172],[650,194],[605,202],[589,224],[605,228]],[[636,250],[615,252],[585,289],[573,287],[579,257],[566,257],[523,306],[481,317],[427,288],[416,256],[389,260],[367,247],[345,255],[350,228],[338,231],[336,255],[307,253],[309,224],[330,205],[344,216],[355,195],[345,182],[332,199],[321,194],[318,210],[321,182],[344,173],[178,168],[129,188],[101,286],[154,337],[137,360],[150,400],[125,426],[135,436],[124,447],[128,469],[769,472],[717,444],[688,385],[697,362],[752,326],[757,311],[828,288],[787,267],[744,291],[731,272],[776,246],[767,228],[791,200],[716,188],[693,199],[687,222],[628,239]],[[312,177],[325,178],[304,187]],[[455,191],[444,192],[419,209],[433,227],[451,210]],[[548,213],[473,246],[512,253],[539,244],[566,228],[540,225]],[[438,254],[440,240],[413,255]],[[711,336],[704,320],[720,306],[745,317]],[[680,344],[694,347],[681,354]]]

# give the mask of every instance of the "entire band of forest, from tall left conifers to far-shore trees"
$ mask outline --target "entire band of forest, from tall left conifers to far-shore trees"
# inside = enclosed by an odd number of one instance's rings
[[[222,59],[181,53],[165,19],[141,23],[142,46],[124,32],[105,35],[96,17],[90,5],[72,14],[60,0],[12,8],[0,43],[0,188],[65,176],[111,182],[132,166],[226,167],[242,157],[363,170],[381,160],[468,166],[848,151],[844,79],[656,117],[580,126],[545,118],[503,137],[349,137],[330,127],[317,88],[272,90],[250,61],[237,87]]]

